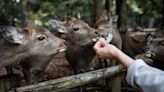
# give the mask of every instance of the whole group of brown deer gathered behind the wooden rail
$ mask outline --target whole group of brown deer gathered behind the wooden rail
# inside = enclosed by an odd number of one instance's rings
[[[76,18],[67,22],[49,19],[48,29],[33,23],[23,28],[1,25],[0,67],[21,67],[27,84],[32,84],[39,81],[39,74],[51,59],[63,52],[75,74],[91,71],[98,58],[93,46],[100,37],[104,37],[132,58],[142,58],[163,70],[163,33],[140,30],[128,31],[121,36],[117,19],[117,16],[111,17],[104,12],[93,28]],[[111,35],[112,38],[108,39]]]

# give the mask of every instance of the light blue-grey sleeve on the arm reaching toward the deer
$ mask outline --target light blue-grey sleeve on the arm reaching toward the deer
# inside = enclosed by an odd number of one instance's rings
[[[126,80],[143,92],[164,92],[164,72],[150,67],[141,59],[128,67]]]

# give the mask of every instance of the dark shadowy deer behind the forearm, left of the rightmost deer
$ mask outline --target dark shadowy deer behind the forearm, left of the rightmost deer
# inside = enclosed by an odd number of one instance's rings
[[[148,37],[151,35],[144,31],[127,32],[125,34],[125,52],[131,57],[144,53],[144,47],[147,45]]]

